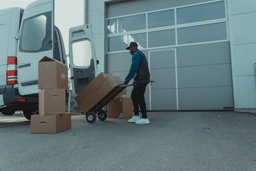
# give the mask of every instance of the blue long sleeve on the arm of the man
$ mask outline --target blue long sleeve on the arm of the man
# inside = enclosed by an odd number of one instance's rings
[[[127,75],[127,77],[124,80],[124,84],[128,84],[132,78],[134,77],[134,75],[136,74],[139,65],[140,65],[140,61],[141,61],[141,56],[138,53],[134,53],[133,57],[132,57],[132,65],[130,67],[130,71],[129,74]]]

